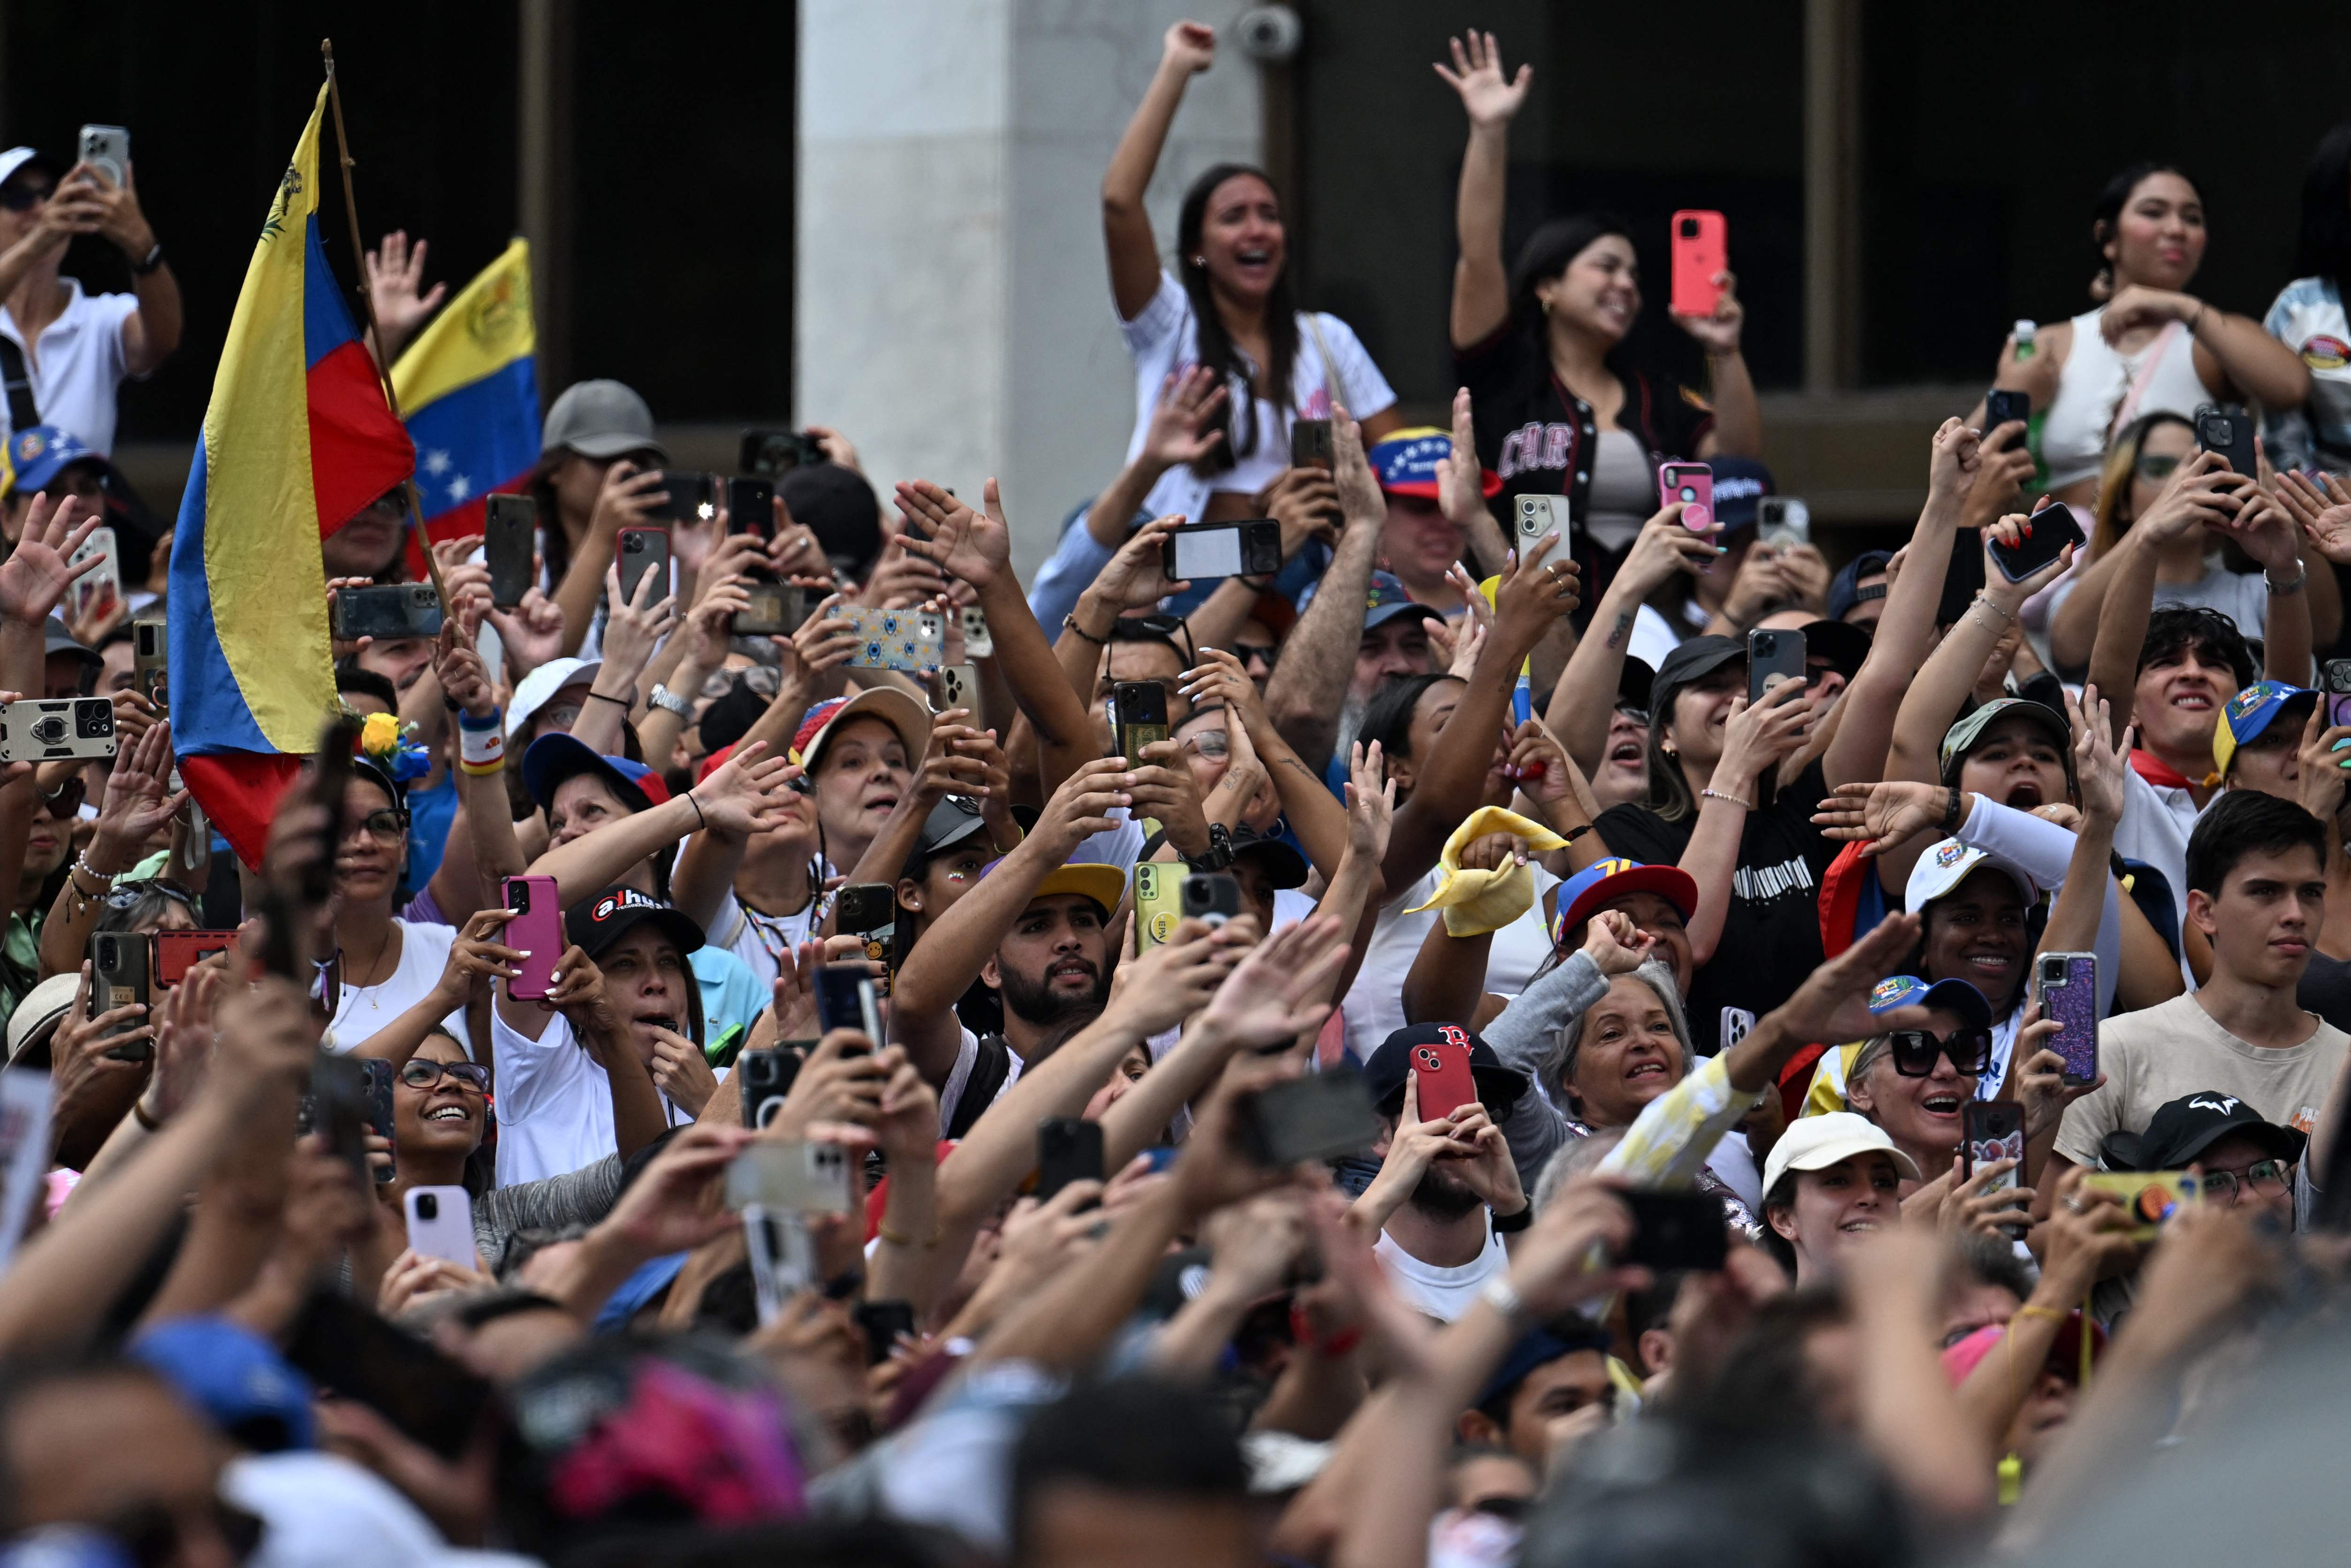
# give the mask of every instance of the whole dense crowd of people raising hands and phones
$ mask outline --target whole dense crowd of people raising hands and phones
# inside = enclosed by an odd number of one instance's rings
[[[108,463],[162,242],[129,172],[0,155],[0,696],[115,736],[0,764],[0,1552],[1914,1563],[2130,1519],[2170,1561],[2264,1432],[2323,1453],[2351,125],[2259,320],[2191,292],[2191,176],[2118,174],[2088,308],[1831,567],[1766,527],[1728,270],[1688,386],[1629,348],[1625,221],[1505,256],[1531,66],[1436,61],[1460,390],[1415,428],[1260,169],[1152,230],[1218,49],[1168,31],[1103,179],[1133,440],[1030,583],[1051,498],[811,428],[771,517],[679,517],[647,402],[576,383],[536,585],[433,545],[440,632],[336,642],[256,865],[183,788],[169,541]],[[59,275],[89,233],[136,294]],[[371,353],[426,284],[367,256]],[[409,505],[324,534],[329,597],[426,578]],[[1176,576],[1260,520],[1279,562]],[[101,524],[143,585],[75,590]],[[797,628],[738,630],[776,588]]]

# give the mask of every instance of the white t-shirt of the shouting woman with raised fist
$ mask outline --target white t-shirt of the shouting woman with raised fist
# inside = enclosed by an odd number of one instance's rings
[[[1321,310],[1312,315],[1312,329],[1307,320],[1307,315],[1298,317],[1298,362],[1291,364],[1295,409],[1267,407],[1262,397],[1251,395],[1248,407],[1258,416],[1255,449],[1213,480],[1199,477],[1187,465],[1166,470],[1143,501],[1152,517],[1183,512],[1199,522],[1211,489],[1255,494],[1272,484],[1274,475],[1291,465],[1291,418],[1331,418],[1331,369],[1338,371],[1338,402],[1347,407],[1349,416],[1371,418],[1394,407],[1396,393],[1364,353],[1354,329]],[[1152,294],[1152,303],[1143,306],[1136,320],[1119,322],[1119,334],[1126,339],[1126,353],[1136,360],[1136,433],[1126,442],[1126,461],[1133,463],[1136,454],[1143,451],[1143,433],[1152,423],[1152,409],[1159,407],[1161,386],[1176,371],[1199,364],[1199,320],[1192,315],[1192,296],[1168,273],[1159,273],[1159,292]],[[1317,334],[1321,334],[1321,346],[1331,350],[1335,362],[1331,369],[1324,367],[1321,348],[1314,343]],[[1234,357],[1248,362],[1248,355],[1239,350]],[[1248,383],[1234,374],[1230,407],[1244,407],[1244,393],[1248,393]]]

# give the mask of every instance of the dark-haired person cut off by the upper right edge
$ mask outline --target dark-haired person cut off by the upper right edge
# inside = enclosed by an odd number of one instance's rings
[[[2302,235],[2295,282],[2278,289],[2262,329],[2285,343],[2311,376],[2299,409],[2266,409],[2269,461],[2285,468],[2351,473],[2351,120],[2318,139],[2302,172]]]

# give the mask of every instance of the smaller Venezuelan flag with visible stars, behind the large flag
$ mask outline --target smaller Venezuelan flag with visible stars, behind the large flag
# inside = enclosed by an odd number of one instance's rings
[[[538,463],[536,355],[531,247],[515,240],[393,367],[428,538],[480,534],[482,498],[522,489]]]

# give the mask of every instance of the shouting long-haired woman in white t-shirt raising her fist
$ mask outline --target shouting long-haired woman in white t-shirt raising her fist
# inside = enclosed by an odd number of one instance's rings
[[[1354,331],[1335,315],[1298,310],[1281,200],[1265,172],[1220,162],[1192,181],[1176,221],[1176,275],[1159,266],[1143,193],[1185,85],[1211,63],[1211,28],[1168,28],[1159,71],[1103,176],[1110,294],[1136,360],[1128,461],[1168,376],[1206,364],[1230,388],[1225,440],[1171,468],[1145,498],[1154,517],[1183,512],[1192,522],[1260,515],[1258,491],[1291,465],[1293,418],[1328,418],[1340,404],[1364,423],[1366,447],[1404,425]]]

